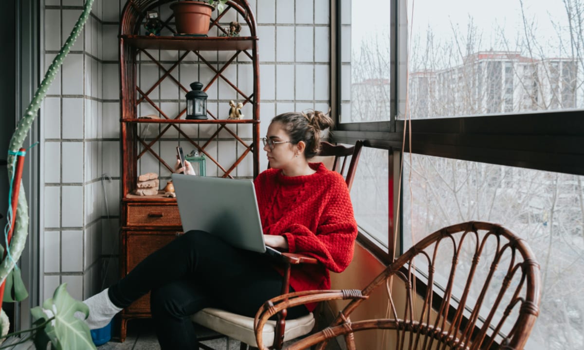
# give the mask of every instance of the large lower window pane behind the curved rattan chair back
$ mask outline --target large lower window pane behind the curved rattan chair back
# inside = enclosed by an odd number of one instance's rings
[[[584,348],[584,177],[423,155],[411,164],[406,155],[404,168],[405,249],[455,223],[502,223],[541,267],[540,316],[526,348]]]

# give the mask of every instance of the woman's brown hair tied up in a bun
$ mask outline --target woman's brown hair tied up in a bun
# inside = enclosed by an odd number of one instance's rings
[[[321,131],[334,124],[328,113],[314,110],[282,113],[272,119],[272,122],[276,121],[284,126],[284,130],[290,136],[290,143],[296,145],[304,141],[306,144],[304,156],[307,159],[317,155],[320,150]]]

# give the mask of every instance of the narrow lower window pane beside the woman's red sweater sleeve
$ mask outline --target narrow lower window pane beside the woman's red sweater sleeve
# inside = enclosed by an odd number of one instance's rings
[[[389,151],[363,148],[351,188],[351,201],[361,231],[379,246],[389,237]]]

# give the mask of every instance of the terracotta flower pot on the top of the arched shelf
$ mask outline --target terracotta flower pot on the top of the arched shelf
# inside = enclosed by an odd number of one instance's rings
[[[213,6],[199,1],[179,1],[171,4],[179,34],[207,35]]]

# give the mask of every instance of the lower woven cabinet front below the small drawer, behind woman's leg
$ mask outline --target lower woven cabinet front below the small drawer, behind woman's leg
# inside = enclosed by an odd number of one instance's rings
[[[140,261],[166,246],[177,236],[172,232],[127,232],[126,239],[126,273],[132,271]],[[150,293],[132,303],[127,313],[150,313]]]

